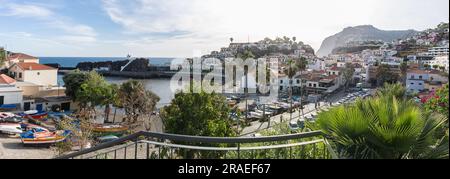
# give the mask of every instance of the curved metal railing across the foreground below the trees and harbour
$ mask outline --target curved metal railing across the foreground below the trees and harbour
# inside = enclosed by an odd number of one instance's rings
[[[56,159],[337,159],[322,132],[199,137],[138,132]]]

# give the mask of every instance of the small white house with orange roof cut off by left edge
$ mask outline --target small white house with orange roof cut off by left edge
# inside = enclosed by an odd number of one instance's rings
[[[16,80],[5,74],[0,75],[0,107],[13,105],[16,109],[21,108],[23,101],[22,90],[16,87]]]

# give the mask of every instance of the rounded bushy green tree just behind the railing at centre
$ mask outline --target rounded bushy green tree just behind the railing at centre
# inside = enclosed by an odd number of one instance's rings
[[[216,93],[177,93],[172,103],[163,108],[161,117],[167,133],[232,137],[235,131],[226,99]]]

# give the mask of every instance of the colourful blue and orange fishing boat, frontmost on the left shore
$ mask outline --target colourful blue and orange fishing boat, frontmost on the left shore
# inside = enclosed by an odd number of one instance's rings
[[[25,145],[54,144],[66,140],[70,133],[68,130],[50,132],[40,128],[34,128],[20,134],[20,138]]]

